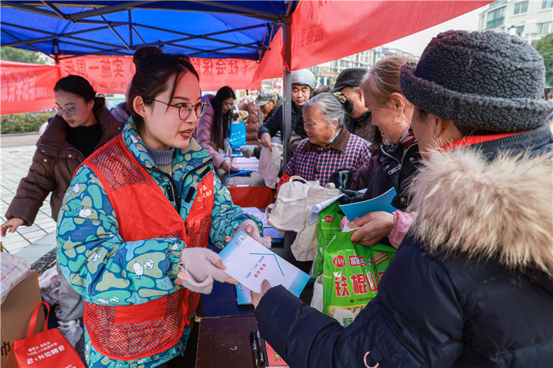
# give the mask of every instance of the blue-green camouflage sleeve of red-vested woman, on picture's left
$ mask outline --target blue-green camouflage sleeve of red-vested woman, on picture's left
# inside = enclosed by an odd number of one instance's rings
[[[185,244],[177,238],[124,242],[102,184],[81,166],[57,221],[59,267],[86,302],[142,304],[165,296],[174,283]]]

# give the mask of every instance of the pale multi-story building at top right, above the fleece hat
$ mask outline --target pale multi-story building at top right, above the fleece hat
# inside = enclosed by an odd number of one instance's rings
[[[553,32],[553,0],[494,1],[480,12],[478,29],[509,32],[535,46]]]

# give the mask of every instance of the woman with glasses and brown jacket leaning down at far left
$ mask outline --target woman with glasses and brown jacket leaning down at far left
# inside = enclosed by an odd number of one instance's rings
[[[79,75],[68,75],[54,86],[56,115],[37,142],[29,172],[21,179],[6,218],[0,226],[1,236],[13,233],[19,226],[30,226],[51,193],[52,218],[59,208],[73,173],[93,151],[121,132],[121,124],[104,108],[104,98],[97,98],[94,88]],[[82,298],[59,271],[59,331],[75,346],[82,337]]]

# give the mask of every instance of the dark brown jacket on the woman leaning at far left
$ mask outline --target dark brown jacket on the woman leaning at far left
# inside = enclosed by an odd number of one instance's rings
[[[95,149],[100,148],[122,131],[118,122],[106,108],[102,108],[96,118],[102,127],[102,137]],[[67,142],[68,124],[61,117],[48,119],[48,128],[37,142],[37,151],[32,157],[32,164],[26,177],[21,179],[17,193],[6,212],[6,218],[19,217],[24,225],[30,226],[42,206],[48,193],[52,218],[57,220],[57,213],[62,206],[65,192],[71,183],[73,173],[84,161],[84,155]]]

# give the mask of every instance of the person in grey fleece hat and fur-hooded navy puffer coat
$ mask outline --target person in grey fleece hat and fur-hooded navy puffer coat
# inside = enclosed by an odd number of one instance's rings
[[[261,336],[290,367],[553,366],[544,82],[541,56],[493,31],[444,32],[402,66],[425,159],[418,215],[348,327],[283,287],[252,295]]]

